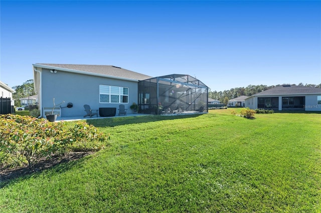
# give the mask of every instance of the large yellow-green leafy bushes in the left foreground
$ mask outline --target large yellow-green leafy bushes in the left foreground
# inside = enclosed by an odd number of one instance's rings
[[[108,139],[109,134],[84,121],[67,127],[66,122],[44,118],[0,115],[0,167],[32,165],[41,157],[69,151],[99,150]]]

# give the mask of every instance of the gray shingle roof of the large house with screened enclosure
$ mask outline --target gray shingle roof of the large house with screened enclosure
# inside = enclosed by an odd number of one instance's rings
[[[94,74],[101,74],[106,76],[121,77],[127,79],[144,80],[151,76],[134,72],[113,65],[87,65],[87,64],[56,64],[56,63],[36,63],[37,65],[48,66],[48,68],[62,68],[70,71],[82,71]]]

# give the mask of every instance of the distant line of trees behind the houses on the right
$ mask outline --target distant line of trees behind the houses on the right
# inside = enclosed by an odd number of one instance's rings
[[[296,84],[292,84],[292,85],[296,85]],[[309,87],[319,87],[321,88],[321,83],[320,84],[303,84],[303,83],[299,83],[297,84],[298,86],[309,86]],[[209,91],[209,97],[216,99],[216,100],[220,100],[221,102],[223,102],[224,104],[227,104],[228,100],[242,96],[242,95],[246,95],[246,96],[251,96],[253,94],[256,94],[258,92],[273,88],[275,86],[280,86],[280,84],[277,85],[271,85],[271,86],[267,86],[267,85],[248,85],[246,87],[235,87],[235,88],[231,88],[229,90],[224,90],[224,91]]]

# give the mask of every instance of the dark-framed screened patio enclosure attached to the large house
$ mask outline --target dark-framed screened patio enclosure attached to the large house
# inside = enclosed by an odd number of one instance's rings
[[[208,112],[208,87],[195,77],[170,74],[138,82],[139,112],[177,114]]]

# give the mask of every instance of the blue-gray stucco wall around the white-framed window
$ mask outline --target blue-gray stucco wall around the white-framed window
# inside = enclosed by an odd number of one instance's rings
[[[113,79],[101,76],[90,76],[80,73],[71,73],[57,70],[57,73],[50,72],[49,69],[42,69],[42,89],[41,107],[53,107],[53,97],[55,103],[61,104],[61,116],[82,116],[85,115],[84,104],[90,105],[91,109],[99,107],[116,107],[124,104],[129,109],[132,102],[137,102],[138,83],[123,79]],[[99,103],[99,85],[113,85],[128,87],[128,103]],[[73,103],[73,107],[68,108],[67,103]],[[128,111],[129,112],[129,111]],[[44,113],[42,114],[44,116]]]

